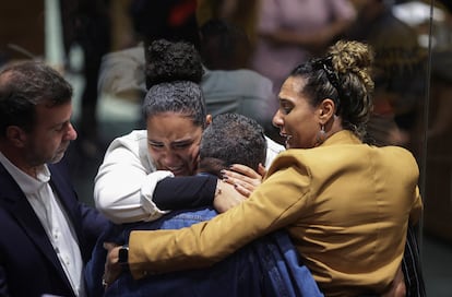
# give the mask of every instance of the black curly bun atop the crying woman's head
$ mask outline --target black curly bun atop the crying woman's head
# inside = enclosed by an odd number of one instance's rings
[[[189,43],[155,40],[145,49],[145,58],[147,88],[175,81],[201,82],[204,72],[201,57]]]

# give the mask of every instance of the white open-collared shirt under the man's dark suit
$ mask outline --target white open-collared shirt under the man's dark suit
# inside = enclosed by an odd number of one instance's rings
[[[40,167],[37,177],[33,178],[14,166],[1,152],[0,163],[17,182],[39,218],[75,295],[85,296],[79,242],[68,214],[50,187],[47,165]]]

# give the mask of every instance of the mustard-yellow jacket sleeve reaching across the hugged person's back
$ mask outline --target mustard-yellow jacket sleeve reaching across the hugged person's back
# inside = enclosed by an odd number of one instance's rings
[[[309,178],[296,170],[276,173],[243,203],[204,223],[181,230],[132,231],[129,266],[135,278],[147,272],[209,266],[253,239],[282,228],[299,217]],[[286,174],[297,176],[285,182]],[[279,176],[279,178],[278,178]],[[282,185],[285,200],[281,195]],[[246,226],[246,227],[245,227]]]

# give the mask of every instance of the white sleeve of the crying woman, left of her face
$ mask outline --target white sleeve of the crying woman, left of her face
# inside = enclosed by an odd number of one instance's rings
[[[94,202],[116,224],[154,221],[168,211],[152,200],[157,182],[170,171],[156,171],[147,157],[145,131],[114,140],[108,147],[94,185]]]

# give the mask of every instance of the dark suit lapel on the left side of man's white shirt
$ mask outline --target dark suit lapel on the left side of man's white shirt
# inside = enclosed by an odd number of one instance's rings
[[[3,207],[16,219],[17,225],[22,227],[24,235],[32,239],[36,249],[41,251],[43,256],[51,263],[52,268],[58,271],[61,280],[71,287],[39,218],[36,216],[35,211],[28,203],[28,200],[19,185],[1,164],[0,189],[0,207]]]

